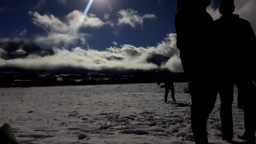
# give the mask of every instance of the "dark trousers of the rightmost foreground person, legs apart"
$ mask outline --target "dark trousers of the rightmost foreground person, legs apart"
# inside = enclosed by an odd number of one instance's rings
[[[234,85],[239,91],[239,101],[243,103],[245,117],[245,136],[247,140],[255,141],[256,132],[256,87],[250,78],[235,77],[234,80],[222,79],[219,91],[221,99],[221,131],[223,139],[233,138],[232,103],[234,100]]]

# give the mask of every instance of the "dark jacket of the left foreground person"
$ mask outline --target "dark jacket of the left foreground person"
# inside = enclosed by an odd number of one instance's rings
[[[213,24],[212,17],[205,10],[181,8],[176,13],[177,47],[188,76],[198,67],[215,67]]]

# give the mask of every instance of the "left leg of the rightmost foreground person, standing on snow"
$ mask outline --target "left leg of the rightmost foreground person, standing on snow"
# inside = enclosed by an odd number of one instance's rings
[[[232,80],[222,80],[219,90],[222,139],[227,141],[233,138],[232,103],[234,100],[234,85]]]

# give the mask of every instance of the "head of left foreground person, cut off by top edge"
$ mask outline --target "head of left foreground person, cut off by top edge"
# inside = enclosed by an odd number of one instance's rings
[[[211,0],[177,0],[180,8],[206,8],[211,5]]]

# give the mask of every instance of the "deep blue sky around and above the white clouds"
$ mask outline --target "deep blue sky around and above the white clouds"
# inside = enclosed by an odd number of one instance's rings
[[[80,43],[45,44],[35,40],[38,35],[47,35],[45,29],[33,23],[33,16],[29,12],[38,12],[40,15],[53,15],[60,21],[74,10],[84,11],[88,0],[4,0],[0,2],[0,38],[20,38],[34,41],[43,47],[80,46]],[[143,23],[131,27],[129,24],[118,25],[118,12],[132,9],[136,15],[153,14],[155,18],[144,19]],[[176,0],[94,0],[89,10],[101,21],[111,21],[114,26],[84,27],[81,33],[89,34],[86,41],[90,48],[102,50],[113,45],[113,42],[130,44],[134,46],[154,46],[160,43],[167,34],[175,33],[174,16],[176,13]],[[104,14],[109,19],[104,19]]]

